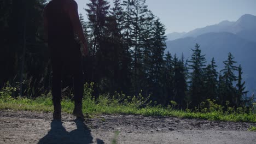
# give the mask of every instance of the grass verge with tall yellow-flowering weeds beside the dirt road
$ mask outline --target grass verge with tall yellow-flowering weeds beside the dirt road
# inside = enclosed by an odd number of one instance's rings
[[[97,100],[91,96],[91,89],[86,86],[83,99],[83,112],[94,116],[100,114],[124,114],[124,115],[143,115],[143,116],[171,116],[179,118],[198,118],[208,119],[210,121],[232,121],[232,122],[256,122],[255,113],[246,112],[223,112],[217,110],[212,102],[208,109],[204,108],[201,112],[192,112],[190,110],[175,110],[173,106],[163,107],[161,105],[150,106],[147,99],[140,94],[137,97],[126,97],[124,94],[101,95]],[[10,90],[10,91],[9,91]],[[53,112],[53,103],[51,94],[43,95],[36,99],[30,98],[11,98],[9,95],[11,89],[3,89],[0,92],[0,110],[27,110]],[[69,99],[62,99],[62,111],[72,113],[74,103]],[[218,108],[219,109],[219,108]],[[104,119],[102,119],[104,121]]]

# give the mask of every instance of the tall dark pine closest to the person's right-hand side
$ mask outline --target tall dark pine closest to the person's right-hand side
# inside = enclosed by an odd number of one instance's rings
[[[104,77],[109,76],[109,59],[110,43],[108,33],[108,13],[109,2],[106,0],[90,0],[88,3],[88,9],[85,9],[88,13],[89,28],[91,31],[91,53],[89,59],[90,67],[90,80],[96,83],[95,95],[100,93],[100,87],[102,85],[108,85],[108,80]],[[107,52],[107,53],[106,53]],[[104,79],[104,80],[103,80]],[[106,81],[105,81],[106,80]],[[104,91],[102,89],[102,91]]]

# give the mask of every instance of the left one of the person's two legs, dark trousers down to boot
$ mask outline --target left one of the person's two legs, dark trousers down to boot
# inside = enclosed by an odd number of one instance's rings
[[[61,119],[61,71],[62,64],[60,59],[52,58],[51,65],[53,69],[52,73],[52,86],[51,94],[53,95],[53,104],[54,104],[54,119]]]

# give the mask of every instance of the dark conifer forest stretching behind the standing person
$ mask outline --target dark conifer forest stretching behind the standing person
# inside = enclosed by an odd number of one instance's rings
[[[0,89],[19,86],[13,97],[39,97],[51,91],[51,64],[43,38],[46,0],[0,0]],[[214,57],[206,61],[200,44],[191,45],[190,58],[166,51],[165,25],[146,0],[90,0],[80,14],[89,55],[83,57],[84,82],[94,83],[93,95],[149,96],[152,104],[179,109],[207,99],[219,105],[249,104],[243,65],[226,53],[224,67]],[[217,70],[221,69],[221,70]],[[62,88],[72,93],[72,78],[63,75]]]

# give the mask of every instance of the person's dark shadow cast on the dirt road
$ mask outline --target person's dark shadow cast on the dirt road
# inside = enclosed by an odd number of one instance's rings
[[[91,130],[79,119],[75,119],[77,129],[68,132],[61,121],[52,121],[51,129],[47,135],[39,140],[38,144],[43,143],[92,143],[93,137]],[[104,143],[97,139],[97,143]]]

